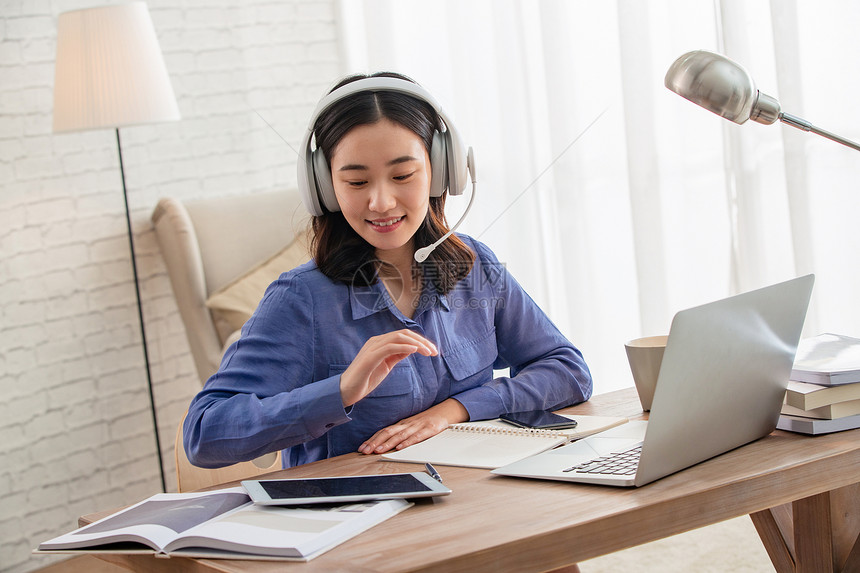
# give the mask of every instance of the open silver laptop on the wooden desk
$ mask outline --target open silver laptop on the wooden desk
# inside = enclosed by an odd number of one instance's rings
[[[648,422],[633,421],[493,470],[641,486],[776,428],[813,275],[675,315]]]

